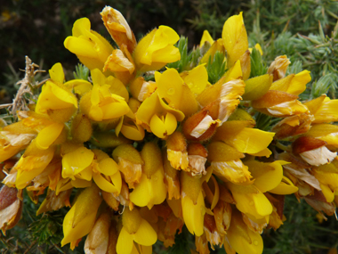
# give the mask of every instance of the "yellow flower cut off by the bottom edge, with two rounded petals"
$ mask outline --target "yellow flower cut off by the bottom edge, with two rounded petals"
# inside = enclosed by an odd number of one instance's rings
[[[151,246],[157,242],[157,233],[149,222],[141,217],[138,209],[125,209],[122,215],[122,229],[117,239],[117,254],[133,253],[134,242]]]

